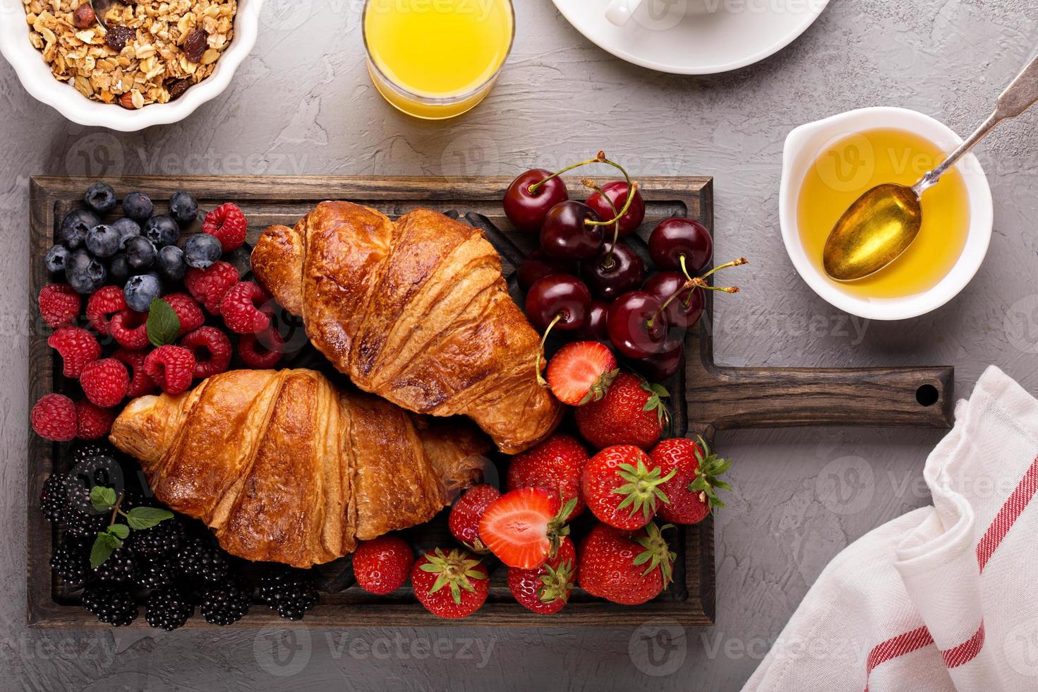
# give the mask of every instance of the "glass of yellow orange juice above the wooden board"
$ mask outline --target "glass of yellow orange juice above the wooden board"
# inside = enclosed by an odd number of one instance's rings
[[[512,0],[366,0],[367,71],[405,113],[454,117],[493,88],[515,24]]]

